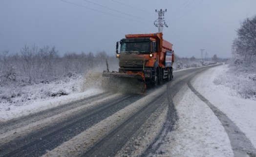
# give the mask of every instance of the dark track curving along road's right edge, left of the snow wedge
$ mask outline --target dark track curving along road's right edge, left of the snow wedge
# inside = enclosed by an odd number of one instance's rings
[[[176,115],[176,109],[174,107],[174,104],[172,102],[172,99],[176,96],[177,92],[183,86],[186,84],[186,82],[196,76],[198,73],[201,73],[202,71],[211,68],[213,66],[218,66],[218,65],[211,65],[211,66],[205,66],[205,67],[200,67],[200,68],[193,68],[193,69],[188,69],[185,71],[179,71],[179,72],[174,72],[175,74],[175,79],[173,79],[171,82],[168,82],[166,84],[166,92],[167,92],[167,98],[168,98],[168,107],[167,107],[167,114],[165,116],[165,122],[163,122],[162,126],[160,127],[160,130],[157,132],[157,135],[151,136],[150,140],[147,138],[147,136],[144,137],[144,135],[135,136],[133,139],[140,139],[140,143],[136,143],[135,141],[135,148],[131,146],[131,142],[134,140],[128,141],[127,147],[123,148],[122,151],[120,151],[116,157],[119,157],[120,155],[123,156],[129,156],[129,157],[155,157],[157,155],[162,154],[162,151],[159,150],[161,145],[163,144],[163,141],[168,133],[170,133],[173,130],[173,125],[175,121],[178,119]],[[145,128],[144,128],[145,129]],[[147,130],[147,129],[146,129]],[[144,130],[145,131],[145,130]],[[140,135],[140,134],[139,134]],[[143,138],[141,140],[141,137]],[[144,141],[147,141],[147,145],[143,143]],[[129,144],[131,143],[131,144]],[[129,149],[131,148],[131,150]]]

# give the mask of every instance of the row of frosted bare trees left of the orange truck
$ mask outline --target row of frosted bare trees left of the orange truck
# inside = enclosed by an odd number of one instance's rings
[[[9,55],[8,51],[2,51],[0,85],[49,82],[67,75],[83,75],[92,68],[106,66],[106,58],[111,63],[118,63],[115,56],[109,56],[105,51],[96,54],[65,53],[61,57],[54,46],[38,48],[36,45],[24,45],[20,54]]]

